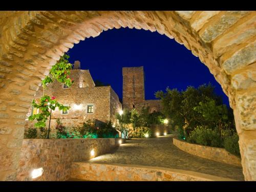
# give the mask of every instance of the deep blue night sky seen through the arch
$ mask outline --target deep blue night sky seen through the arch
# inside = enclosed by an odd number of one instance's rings
[[[191,51],[174,39],[157,32],[120,28],[103,31],[97,37],[86,38],[69,50],[71,63],[81,62],[94,80],[111,84],[122,98],[122,67],[144,66],[145,99],[155,99],[158,90],[187,86],[198,87],[211,82],[223,102],[228,97],[208,68]]]

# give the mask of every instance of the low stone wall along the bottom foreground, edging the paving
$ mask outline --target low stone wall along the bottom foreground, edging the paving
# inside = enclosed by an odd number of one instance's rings
[[[70,180],[86,181],[234,181],[166,167],[75,162]]]

